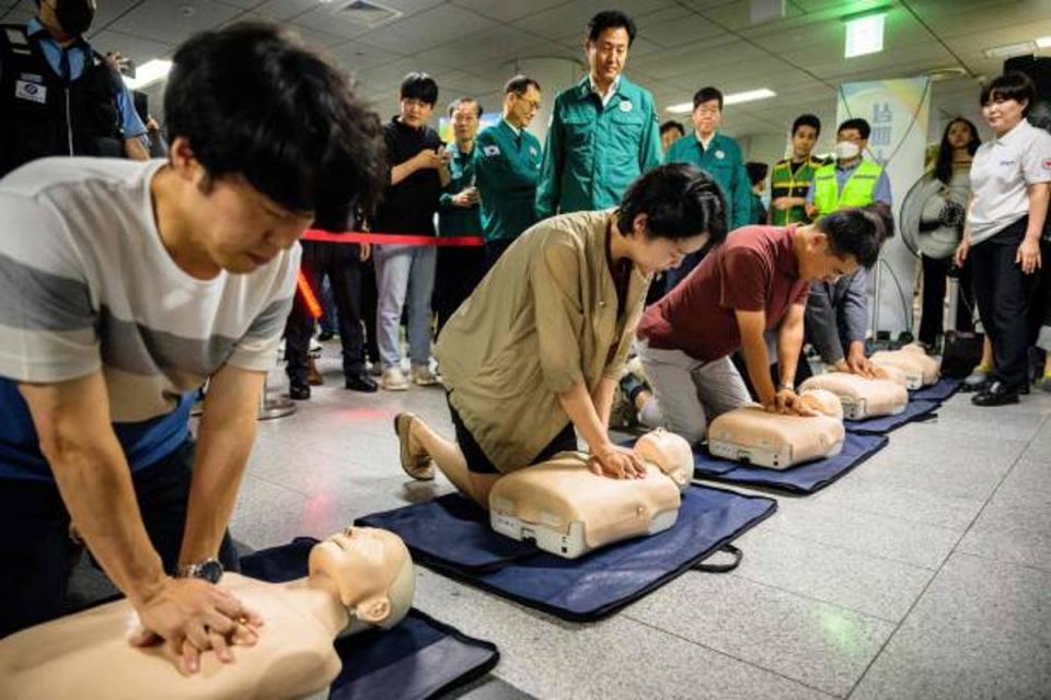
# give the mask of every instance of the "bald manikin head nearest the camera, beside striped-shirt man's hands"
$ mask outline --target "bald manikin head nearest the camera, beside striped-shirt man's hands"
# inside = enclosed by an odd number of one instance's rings
[[[413,606],[416,571],[402,539],[385,529],[350,526],[310,550],[310,576],[328,576],[347,608],[343,634],[390,629]]]

